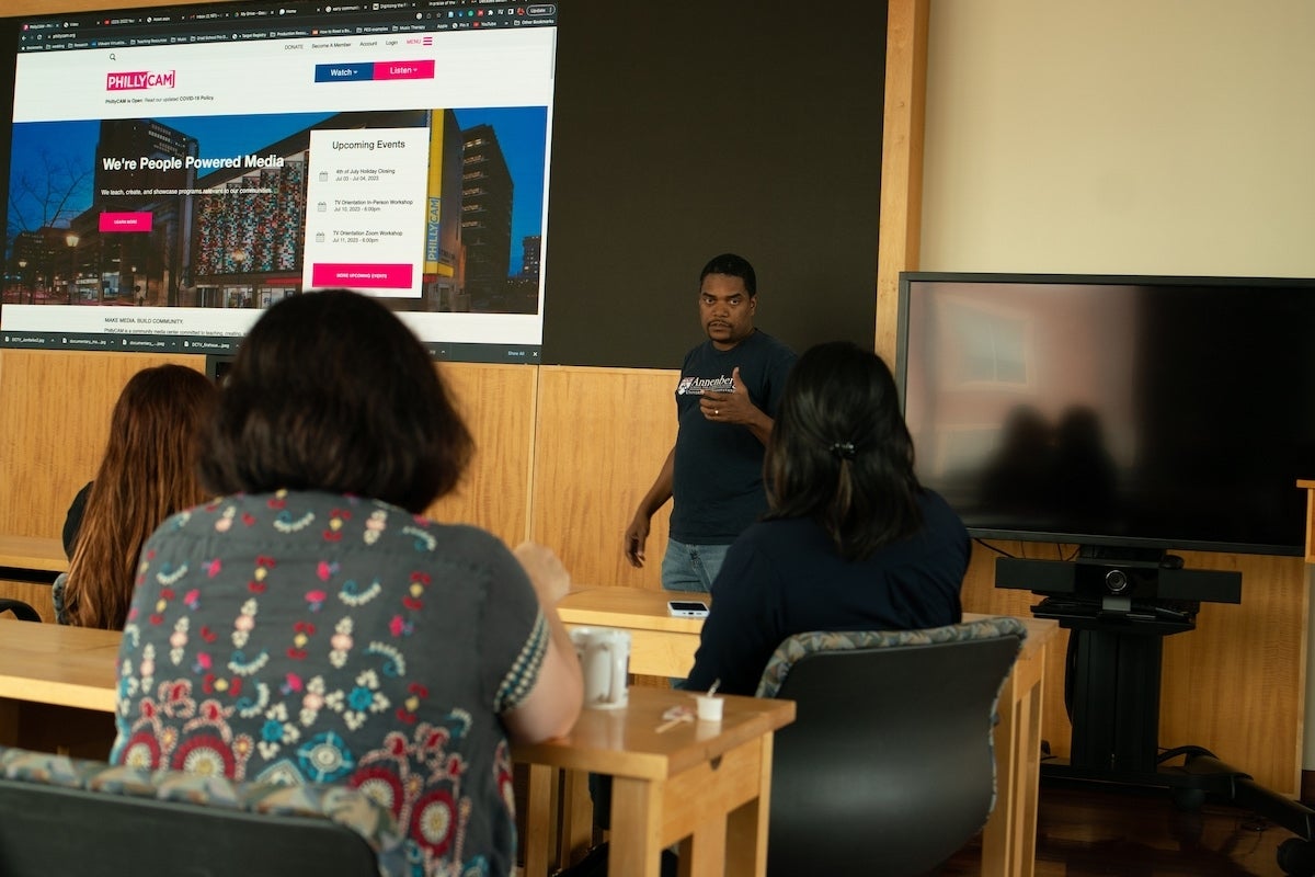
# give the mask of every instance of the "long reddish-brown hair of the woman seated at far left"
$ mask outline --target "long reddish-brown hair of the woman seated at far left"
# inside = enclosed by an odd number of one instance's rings
[[[185,366],[145,368],[124,387],[68,564],[70,623],[122,628],[142,543],[167,517],[206,498],[196,444],[217,396]]]

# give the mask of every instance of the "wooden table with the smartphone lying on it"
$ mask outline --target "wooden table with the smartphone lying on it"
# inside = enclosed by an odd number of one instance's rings
[[[589,588],[567,594],[558,604],[558,613],[567,627],[601,625],[631,631],[633,673],[684,677],[694,665],[704,622],[671,618],[667,601],[690,598],[686,593],[638,588]],[[964,613],[964,621],[982,617]],[[999,697],[999,724],[995,726],[998,797],[982,831],[982,877],[1032,877],[1036,868],[1045,644],[1055,636],[1059,623],[1031,617],[1019,621],[1027,626],[1027,639]],[[571,807],[569,801],[567,807]],[[565,823],[571,826],[577,819],[577,814],[568,813]],[[564,843],[579,844],[579,835],[568,835]]]

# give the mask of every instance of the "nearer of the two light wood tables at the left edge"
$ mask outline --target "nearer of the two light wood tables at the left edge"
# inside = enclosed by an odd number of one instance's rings
[[[121,638],[0,618],[0,744],[107,757]]]

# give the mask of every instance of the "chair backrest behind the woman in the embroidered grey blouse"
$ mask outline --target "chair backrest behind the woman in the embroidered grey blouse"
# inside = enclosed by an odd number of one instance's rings
[[[231,782],[0,747],[0,874],[410,873],[392,813],[333,785]]]

